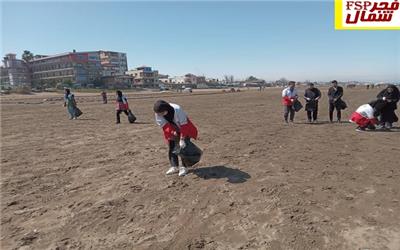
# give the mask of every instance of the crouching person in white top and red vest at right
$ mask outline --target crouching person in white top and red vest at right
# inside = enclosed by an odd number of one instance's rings
[[[358,107],[350,117],[350,122],[358,125],[356,131],[365,131],[367,128],[374,130],[375,125],[378,124],[377,117],[381,114],[385,105],[384,101],[376,100]]]

